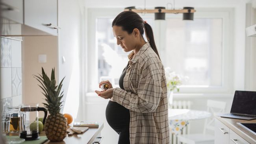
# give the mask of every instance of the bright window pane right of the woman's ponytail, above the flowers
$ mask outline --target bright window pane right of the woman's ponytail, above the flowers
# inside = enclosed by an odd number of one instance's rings
[[[222,86],[222,30],[221,18],[168,18],[164,65],[187,76],[185,86]]]

